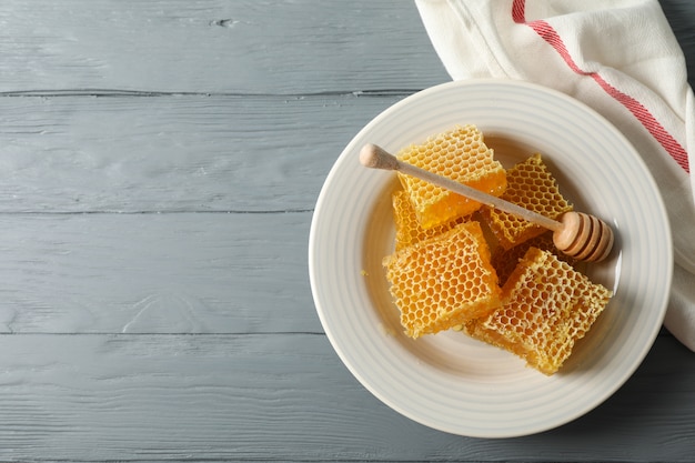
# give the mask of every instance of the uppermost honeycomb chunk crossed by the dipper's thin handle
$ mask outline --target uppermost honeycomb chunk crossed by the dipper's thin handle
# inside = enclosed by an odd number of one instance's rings
[[[469,187],[498,197],[506,188],[506,173],[493,159],[483,134],[475,125],[456,127],[429,138],[422,144],[402,149],[396,157],[421,169],[447,177]],[[452,193],[432,183],[399,173],[409,192],[420,224],[430,229],[467,215],[481,203]]]

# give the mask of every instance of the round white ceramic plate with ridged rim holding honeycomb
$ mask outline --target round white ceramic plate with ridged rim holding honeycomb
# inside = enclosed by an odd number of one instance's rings
[[[541,152],[575,209],[611,223],[607,261],[587,268],[615,295],[561,372],[545,376],[456,332],[402,333],[381,260],[393,250],[393,172],[359,163],[367,142],[395,152],[455,124],[476,124],[511,165]],[[658,334],[673,269],[667,218],[638,154],[607,121],[547,89],[451,82],[371,121],[345,148],[319,197],[309,269],[316,311],[341,360],[375,396],[424,425],[506,437],[556,427],[594,409],[635,371]]]

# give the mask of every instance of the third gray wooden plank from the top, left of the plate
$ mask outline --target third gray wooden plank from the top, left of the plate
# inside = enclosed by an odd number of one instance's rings
[[[0,331],[321,333],[311,213],[4,215]]]

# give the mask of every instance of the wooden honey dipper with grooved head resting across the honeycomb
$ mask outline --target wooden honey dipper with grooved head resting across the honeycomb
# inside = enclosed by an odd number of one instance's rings
[[[556,221],[463,183],[400,161],[383,148],[371,143],[365,144],[360,151],[360,162],[367,168],[394,170],[415,177],[552,230],[555,248],[574,259],[598,262],[605,259],[613,248],[613,230],[607,223],[593,215],[583,212],[565,212],[560,217],[560,221]]]

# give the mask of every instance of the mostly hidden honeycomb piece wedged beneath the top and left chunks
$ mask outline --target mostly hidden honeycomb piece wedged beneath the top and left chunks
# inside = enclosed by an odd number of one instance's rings
[[[453,229],[457,224],[463,223],[466,217],[461,217],[449,223],[425,230],[417,221],[407,192],[397,190],[393,193],[393,219],[395,222],[395,250],[400,251]]]

